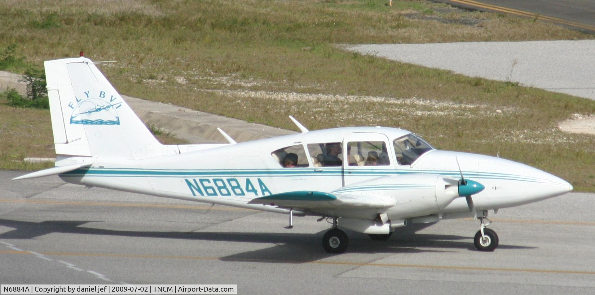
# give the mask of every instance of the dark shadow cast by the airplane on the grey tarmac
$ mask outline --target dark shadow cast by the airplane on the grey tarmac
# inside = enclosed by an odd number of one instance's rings
[[[221,261],[254,261],[273,263],[305,263],[333,256],[322,249],[321,238],[326,232],[318,233],[247,233],[247,232],[187,232],[187,231],[130,231],[80,227],[83,224],[101,221],[51,220],[42,222],[0,219],[0,226],[14,230],[0,234],[0,239],[36,239],[45,234],[93,234],[126,237],[155,237],[159,239],[211,240],[223,242],[271,243],[277,246],[237,253],[221,257]],[[348,231],[349,248],[346,253],[422,253],[457,252],[475,250],[472,237],[446,234],[418,234],[417,231],[430,224],[411,224],[398,229],[386,241],[369,239],[366,234]],[[425,249],[418,249],[425,248]],[[428,250],[427,248],[440,248]],[[450,249],[450,250],[444,250]],[[500,245],[499,249],[535,249],[534,247]]]

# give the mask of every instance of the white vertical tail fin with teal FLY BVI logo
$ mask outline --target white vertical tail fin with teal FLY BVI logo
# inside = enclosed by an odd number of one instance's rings
[[[57,154],[137,160],[168,153],[90,59],[44,65]]]

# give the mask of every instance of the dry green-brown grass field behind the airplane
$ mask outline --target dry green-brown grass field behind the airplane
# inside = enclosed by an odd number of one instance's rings
[[[595,101],[345,52],[337,44],[593,39],[427,1],[0,1],[0,47],[37,66],[83,50],[124,94],[295,129],[398,126],[438,148],[510,158],[595,191],[595,137],[557,122]],[[22,71],[14,65],[12,71]],[[496,110],[501,110],[497,113]],[[11,110],[0,107],[0,112]],[[43,111],[39,111],[43,112]],[[0,167],[53,153],[44,123],[2,116]],[[45,117],[43,117],[45,116]],[[21,124],[36,126],[31,134]],[[21,129],[19,129],[21,128]],[[48,129],[44,129],[48,128]],[[44,132],[46,135],[35,135]],[[21,139],[21,137],[23,137]],[[27,139],[33,138],[33,139]],[[36,139],[38,137],[39,139]],[[43,143],[42,143],[43,142]],[[23,148],[31,145],[35,148]],[[31,168],[32,169],[32,168]]]

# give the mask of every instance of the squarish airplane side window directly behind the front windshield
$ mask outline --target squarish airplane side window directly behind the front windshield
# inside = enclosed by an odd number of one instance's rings
[[[387,166],[390,165],[389,153],[384,141],[347,142],[349,166]]]

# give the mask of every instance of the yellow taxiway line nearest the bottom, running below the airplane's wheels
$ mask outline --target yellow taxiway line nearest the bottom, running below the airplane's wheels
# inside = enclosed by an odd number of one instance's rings
[[[0,251],[1,254],[33,255],[27,251]],[[322,265],[352,265],[355,267],[393,267],[393,268],[428,268],[428,269],[453,269],[465,271],[516,271],[516,272],[537,272],[543,274],[586,274],[595,275],[595,271],[570,271],[565,269],[533,269],[533,268],[489,268],[489,267],[462,267],[454,265],[422,265],[422,264],[383,264],[383,263],[362,263],[345,261],[292,261],[279,259],[227,259],[208,256],[176,256],[176,255],[138,255],[138,254],[111,254],[111,253],[68,253],[68,252],[40,252],[42,255],[55,256],[92,256],[112,258],[149,258],[149,259],[189,259],[189,260],[220,260],[229,262],[266,262],[266,263],[299,263],[299,264],[322,264]]]

